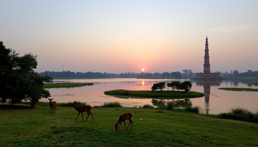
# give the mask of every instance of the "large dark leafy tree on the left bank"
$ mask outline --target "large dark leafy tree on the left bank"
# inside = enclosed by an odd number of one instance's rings
[[[5,60],[2,62],[2,60]],[[29,100],[34,104],[41,98],[51,97],[43,88],[44,82],[52,82],[52,77],[35,73],[37,56],[31,53],[19,56],[12,49],[6,49],[0,41],[0,99],[11,99],[15,102]]]

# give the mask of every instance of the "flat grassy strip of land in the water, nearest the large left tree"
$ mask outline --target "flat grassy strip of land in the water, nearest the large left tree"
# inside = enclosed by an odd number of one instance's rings
[[[43,88],[80,87],[93,85],[93,83],[44,83]]]

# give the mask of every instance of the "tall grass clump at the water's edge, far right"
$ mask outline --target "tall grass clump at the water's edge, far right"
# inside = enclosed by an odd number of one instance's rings
[[[236,119],[258,123],[258,111],[253,113],[246,108],[238,106],[236,108],[231,108],[228,113],[218,114],[218,118]]]

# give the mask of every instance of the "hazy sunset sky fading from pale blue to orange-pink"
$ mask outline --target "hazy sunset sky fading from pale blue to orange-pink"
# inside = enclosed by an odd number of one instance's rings
[[[258,1],[0,0],[0,40],[37,72],[258,71]]]

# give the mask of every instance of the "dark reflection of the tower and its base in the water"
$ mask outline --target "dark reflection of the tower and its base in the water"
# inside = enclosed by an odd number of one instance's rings
[[[204,80],[196,80],[196,85],[197,86],[203,86],[203,90],[204,90],[204,99],[205,99],[205,109],[206,109],[206,114],[209,114],[209,95],[210,95],[210,91],[211,91],[211,86],[220,86],[220,83],[222,81],[204,81]]]

